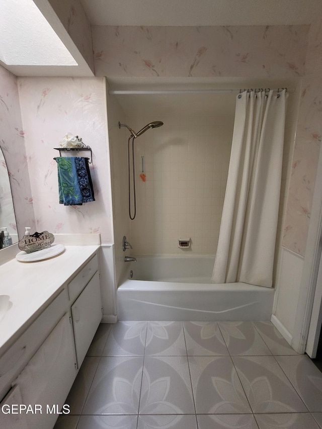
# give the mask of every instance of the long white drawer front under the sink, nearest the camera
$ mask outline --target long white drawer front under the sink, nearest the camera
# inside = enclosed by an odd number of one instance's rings
[[[51,304],[0,358],[0,400],[8,392],[12,380],[26,366],[45,338],[66,312],[67,289],[63,289]]]

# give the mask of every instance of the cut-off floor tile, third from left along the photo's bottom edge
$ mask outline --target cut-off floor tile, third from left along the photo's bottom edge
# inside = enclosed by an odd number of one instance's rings
[[[137,429],[197,429],[195,415],[139,415]]]

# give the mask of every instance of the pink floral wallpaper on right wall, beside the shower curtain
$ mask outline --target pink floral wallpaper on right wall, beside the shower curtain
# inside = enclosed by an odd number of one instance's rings
[[[322,141],[322,20],[310,29],[283,245],[304,255]]]

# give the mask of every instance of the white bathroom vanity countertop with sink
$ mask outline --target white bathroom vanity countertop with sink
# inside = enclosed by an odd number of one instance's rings
[[[63,253],[48,260],[23,263],[13,259],[0,266],[0,295],[9,295],[12,302],[0,318],[0,355],[99,248],[100,245],[66,245]]]

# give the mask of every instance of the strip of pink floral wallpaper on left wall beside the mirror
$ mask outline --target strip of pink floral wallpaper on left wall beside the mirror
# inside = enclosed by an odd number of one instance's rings
[[[6,159],[16,212],[16,222],[8,231],[23,233],[25,226],[35,228],[33,197],[29,182],[28,159],[25,149],[25,130],[22,125],[17,77],[0,66],[0,146]]]

